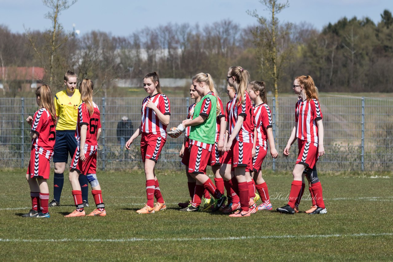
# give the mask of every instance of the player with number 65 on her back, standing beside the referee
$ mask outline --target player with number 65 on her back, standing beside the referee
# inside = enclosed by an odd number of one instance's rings
[[[75,130],[77,149],[70,167],[70,183],[76,209],[65,217],[85,216],[79,176],[86,176],[92,187],[95,209],[88,216],[106,216],[101,187],[97,180],[97,141],[101,134],[101,120],[98,106],[93,102],[94,84],[90,79],[83,79],[79,85],[82,104],[78,107],[78,121]]]

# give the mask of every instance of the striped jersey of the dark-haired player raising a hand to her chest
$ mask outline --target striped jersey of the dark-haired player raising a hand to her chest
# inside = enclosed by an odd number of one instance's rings
[[[160,119],[156,115],[154,110],[146,106],[148,99],[154,103],[158,110],[164,115],[171,115],[171,107],[169,104],[169,99],[166,95],[157,93],[152,97],[145,97],[143,99],[141,114],[141,131],[147,134],[160,135],[163,138],[167,138],[167,126],[161,123]]]

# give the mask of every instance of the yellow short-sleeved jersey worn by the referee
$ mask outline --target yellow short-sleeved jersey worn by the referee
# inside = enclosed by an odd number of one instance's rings
[[[77,89],[72,97],[67,95],[66,90],[55,95],[56,115],[59,117],[56,130],[75,130],[80,104],[82,104],[81,93]]]

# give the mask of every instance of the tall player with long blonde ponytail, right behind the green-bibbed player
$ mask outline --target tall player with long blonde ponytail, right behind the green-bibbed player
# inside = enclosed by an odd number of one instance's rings
[[[246,88],[250,79],[247,70],[241,66],[232,66],[228,70],[228,84],[236,88],[235,99],[230,105],[229,139],[225,147],[230,151],[232,167],[235,169],[236,180],[233,180],[233,189],[238,191],[241,209],[231,214],[231,217],[250,216],[256,212],[256,205],[250,199],[248,182],[251,182],[252,147],[255,117],[250,96]],[[237,183],[236,183],[237,182]],[[253,192],[255,194],[255,191]],[[253,196],[252,196],[253,197]],[[252,207],[249,210],[249,206]]]

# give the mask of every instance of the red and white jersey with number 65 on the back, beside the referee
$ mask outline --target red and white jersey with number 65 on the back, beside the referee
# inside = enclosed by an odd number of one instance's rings
[[[101,118],[98,106],[93,102],[93,114],[89,114],[86,103],[82,102],[78,107],[78,120],[75,130],[75,138],[78,142],[78,147],[81,142],[81,126],[87,126],[86,141],[84,147],[89,147],[91,151],[97,148],[97,133],[98,129],[101,128]]]

